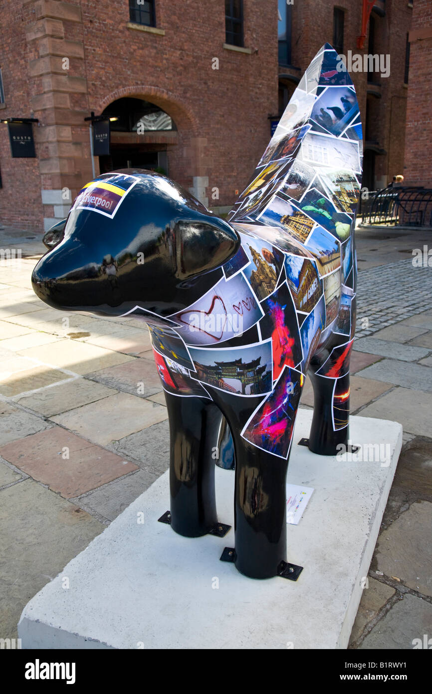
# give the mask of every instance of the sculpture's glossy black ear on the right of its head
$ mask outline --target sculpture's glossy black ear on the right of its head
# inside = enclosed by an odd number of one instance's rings
[[[230,260],[241,244],[232,226],[211,217],[175,224],[175,276],[181,280],[214,270]]]

